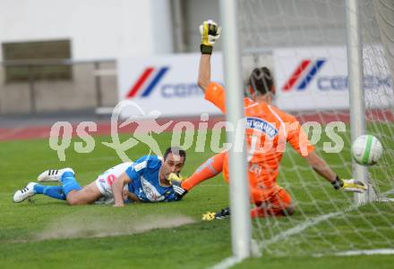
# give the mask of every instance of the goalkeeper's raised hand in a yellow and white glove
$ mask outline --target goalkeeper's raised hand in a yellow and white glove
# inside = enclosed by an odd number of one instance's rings
[[[220,27],[215,21],[208,20],[200,25],[201,54],[211,55],[216,40],[220,37]]]

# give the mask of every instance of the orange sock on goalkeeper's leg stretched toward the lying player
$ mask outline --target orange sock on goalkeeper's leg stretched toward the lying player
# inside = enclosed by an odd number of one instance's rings
[[[219,172],[222,172],[225,155],[226,152],[222,152],[216,156],[210,157],[205,163],[201,164],[190,178],[182,181],[181,187],[190,190],[202,181],[213,178]]]

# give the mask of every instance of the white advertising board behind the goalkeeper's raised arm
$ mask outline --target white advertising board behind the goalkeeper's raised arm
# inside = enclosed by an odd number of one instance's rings
[[[212,57],[211,78],[223,84],[222,57]],[[191,116],[220,111],[197,85],[200,54],[123,58],[117,62],[119,101],[132,100],[144,113]],[[127,110],[122,115],[127,116]],[[130,112],[135,113],[135,112]]]

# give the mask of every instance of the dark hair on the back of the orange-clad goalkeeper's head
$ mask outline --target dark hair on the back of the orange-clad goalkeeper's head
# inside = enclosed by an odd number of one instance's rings
[[[261,95],[271,92],[274,80],[270,69],[265,66],[253,69],[251,76],[249,77],[249,85]]]

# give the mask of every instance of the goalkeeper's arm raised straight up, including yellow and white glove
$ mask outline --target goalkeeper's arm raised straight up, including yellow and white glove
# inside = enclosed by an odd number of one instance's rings
[[[201,34],[201,59],[198,85],[205,92],[205,89],[210,85],[210,55],[212,54],[213,46],[220,36],[220,27],[215,21],[204,21],[200,25]]]

